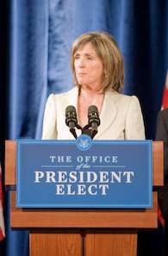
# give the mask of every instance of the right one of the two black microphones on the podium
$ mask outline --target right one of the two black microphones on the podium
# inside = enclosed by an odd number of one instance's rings
[[[97,127],[100,125],[98,109],[95,105],[91,105],[88,109],[88,125],[92,130],[91,138],[93,138],[97,133]]]

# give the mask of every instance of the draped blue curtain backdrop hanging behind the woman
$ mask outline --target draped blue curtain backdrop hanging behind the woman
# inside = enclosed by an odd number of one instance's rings
[[[47,96],[72,87],[72,41],[91,30],[108,31],[118,42],[125,61],[124,92],[139,97],[146,138],[154,138],[168,68],[167,0],[6,0],[4,9],[0,10],[3,17],[6,14],[0,27],[6,67],[0,73],[2,139],[40,139]],[[6,194],[3,253],[28,256],[28,233],[9,228]]]

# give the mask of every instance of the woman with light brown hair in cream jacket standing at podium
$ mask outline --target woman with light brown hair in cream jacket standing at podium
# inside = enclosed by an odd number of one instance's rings
[[[72,45],[72,73],[75,87],[51,94],[45,109],[42,139],[74,140],[65,125],[65,109],[74,105],[78,124],[88,122],[88,108],[96,105],[100,126],[96,140],[143,140],[145,131],[137,97],[121,94],[123,59],[110,34],[82,34]],[[80,130],[77,130],[78,135]]]

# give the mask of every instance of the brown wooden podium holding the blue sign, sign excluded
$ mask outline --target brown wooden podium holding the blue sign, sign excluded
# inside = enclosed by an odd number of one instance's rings
[[[152,184],[163,185],[163,142],[152,143]],[[16,184],[16,141],[5,144],[5,184]],[[152,209],[19,209],[11,192],[10,226],[26,228],[30,256],[135,256],[138,228],[157,228]]]

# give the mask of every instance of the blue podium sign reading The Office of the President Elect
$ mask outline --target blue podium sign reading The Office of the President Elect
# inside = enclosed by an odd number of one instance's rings
[[[152,207],[151,140],[18,140],[17,207]]]

